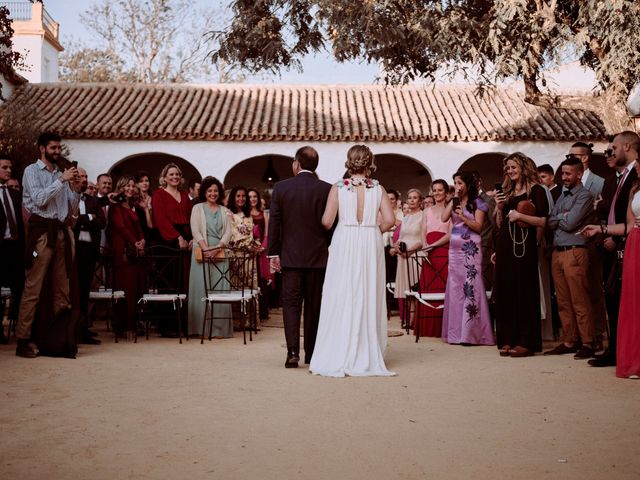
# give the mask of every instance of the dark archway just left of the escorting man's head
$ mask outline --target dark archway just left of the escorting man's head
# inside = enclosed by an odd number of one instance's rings
[[[293,157],[286,155],[268,154],[247,158],[227,172],[223,182],[224,188],[229,190],[243,185],[247,188],[257,188],[261,193],[270,193],[276,181],[293,177],[292,163]],[[273,181],[267,181],[267,177],[271,177]]]

